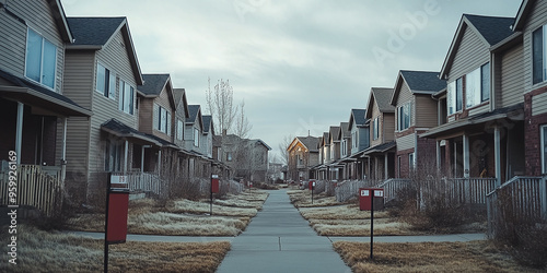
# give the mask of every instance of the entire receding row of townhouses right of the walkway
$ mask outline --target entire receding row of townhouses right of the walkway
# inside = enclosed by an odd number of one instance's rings
[[[547,173],[547,1],[515,17],[464,14],[440,72],[400,70],[365,109],[288,146],[288,179],[447,177],[500,186]]]

